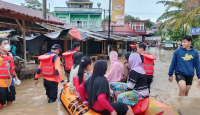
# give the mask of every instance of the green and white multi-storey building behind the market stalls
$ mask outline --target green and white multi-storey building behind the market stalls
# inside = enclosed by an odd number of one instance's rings
[[[102,31],[102,9],[89,0],[68,0],[67,7],[55,7],[55,16],[75,28]]]

